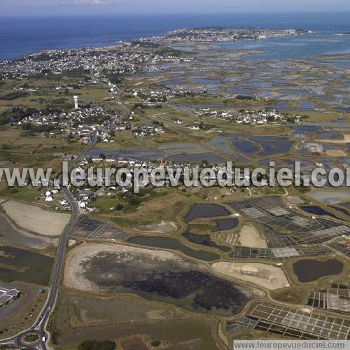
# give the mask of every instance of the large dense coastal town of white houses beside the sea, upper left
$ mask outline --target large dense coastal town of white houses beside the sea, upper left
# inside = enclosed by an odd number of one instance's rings
[[[0,80],[85,71],[90,72],[89,83],[94,83],[99,78],[107,76],[125,76],[136,73],[146,63],[151,70],[160,70],[165,69],[162,64],[176,64],[191,60],[189,57],[164,52],[158,53],[148,62],[150,53],[140,50],[140,46],[139,43],[133,41],[124,41],[104,48],[35,52],[20,59],[0,62]]]

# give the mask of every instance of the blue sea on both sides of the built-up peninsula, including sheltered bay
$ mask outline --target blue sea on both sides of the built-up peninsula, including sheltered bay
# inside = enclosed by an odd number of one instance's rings
[[[268,50],[267,55],[276,59],[350,52],[350,36],[339,35],[350,31],[350,13],[99,15],[0,17],[0,59],[15,59],[38,50],[111,45],[142,36],[165,34],[183,27],[298,28],[315,32],[307,38],[276,38],[228,44],[232,48]]]

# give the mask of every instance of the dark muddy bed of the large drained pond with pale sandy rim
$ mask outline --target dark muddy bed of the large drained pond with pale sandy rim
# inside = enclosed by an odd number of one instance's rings
[[[214,276],[202,264],[155,253],[101,251],[80,265],[85,279],[101,291],[133,293],[193,311],[237,314],[258,293]]]

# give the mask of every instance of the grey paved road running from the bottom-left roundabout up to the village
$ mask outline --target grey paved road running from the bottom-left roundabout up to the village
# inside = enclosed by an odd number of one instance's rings
[[[76,167],[76,164],[78,163],[78,161],[85,156],[85,154],[90,150],[92,146],[94,146],[95,143],[96,143],[96,136],[94,136],[90,144],[88,144],[83,149],[83,151],[81,151],[80,154],[73,160],[71,166],[69,167],[69,172],[71,172],[71,170],[74,167]],[[62,181],[62,178],[61,178],[61,181]],[[59,244],[57,246],[56,262],[55,262],[55,267],[53,269],[48,300],[46,300],[45,307],[43,307],[41,314],[38,316],[36,322],[34,323],[34,325],[31,326],[31,328],[23,332],[20,332],[15,337],[0,340],[0,345],[9,344],[9,345],[15,345],[19,347],[26,347],[27,349],[43,349],[43,350],[47,349],[45,340],[48,339],[48,333],[45,331],[45,323],[46,321],[48,321],[48,318],[55,307],[57,292],[59,289],[59,281],[60,281],[61,272],[62,272],[62,265],[64,262],[66,241],[69,237],[69,234],[71,233],[71,230],[73,230],[74,225],[78,221],[78,217],[80,215],[78,204],[76,200],[73,198],[73,196],[71,195],[69,188],[64,187],[63,192],[64,192],[64,196],[66,197],[66,200],[71,204],[72,216],[68,225],[66,225],[66,228],[64,228],[64,231],[62,232],[61,237],[59,238]],[[25,342],[23,342],[23,337],[25,337],[25,335],[30,333],[36,333],[37,335],[39,335],[38,342],[32,343],[32,344],[26,344]],[[45,340],[43,340],[43,337],[45,337]]]

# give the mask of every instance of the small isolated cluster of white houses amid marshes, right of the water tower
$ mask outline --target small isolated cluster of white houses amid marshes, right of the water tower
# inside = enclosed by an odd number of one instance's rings
[[[221,118],[238,124],[275,124],[275,123],[300,123],[300,116],[280,113],[275,109],[262,109],[260,111],[241,110],[239,113],[230,111],[216,111],[212,109],[197,109],[195,111],[201,117]]]

